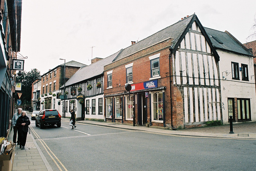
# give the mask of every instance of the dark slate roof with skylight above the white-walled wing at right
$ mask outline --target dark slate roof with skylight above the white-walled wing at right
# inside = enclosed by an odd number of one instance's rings
[[[242,43],[240,43],[234,36],[232,36],[227,31],[222,32],[210,28],[205,28],[212,45],[216,49],[223,49],[226,51],[231,51],[234,53],[252,56],[252,53],[247,50]]]

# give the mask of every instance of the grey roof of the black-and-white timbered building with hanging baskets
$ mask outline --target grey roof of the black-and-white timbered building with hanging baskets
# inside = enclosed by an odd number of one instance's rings
[[[114,53],[113,55],[110,55],[109,57],[101,59],[100,61],[92,63],[91,65],[88,65],[86,67],[81,67],[66,82],[66,86],[74,85],[74,84],[79,83],[81,81],[85,81],[85,80],[90,79],[92,77],[103,74],[104,66],[110,64],[116,58],[116,56],[120,53],[120,51]],[[63,88],[63,87],[64,86],[62,85],[60,88]]]

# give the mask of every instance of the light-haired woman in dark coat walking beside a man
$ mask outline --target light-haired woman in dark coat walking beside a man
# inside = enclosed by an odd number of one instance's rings
[[[30,125],[30,120],[26,116],[26,111],[21,112],[21,116],[17,119],[16,125],[18,126],[18,137],[20,137],[20,148],[25,148],[28,126]]]

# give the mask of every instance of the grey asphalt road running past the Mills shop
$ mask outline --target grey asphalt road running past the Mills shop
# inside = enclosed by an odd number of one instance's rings
[[[256,169],[255,140],[167,136],[77,123],[32,134],[54,171]]]

